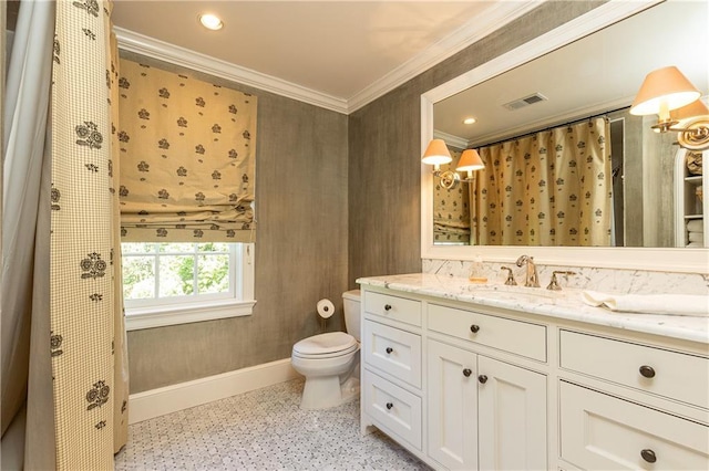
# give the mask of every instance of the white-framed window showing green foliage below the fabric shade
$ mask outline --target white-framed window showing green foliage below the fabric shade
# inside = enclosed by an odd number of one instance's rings
[[[248,315],[250,243],[122,243],[127,329]]]

